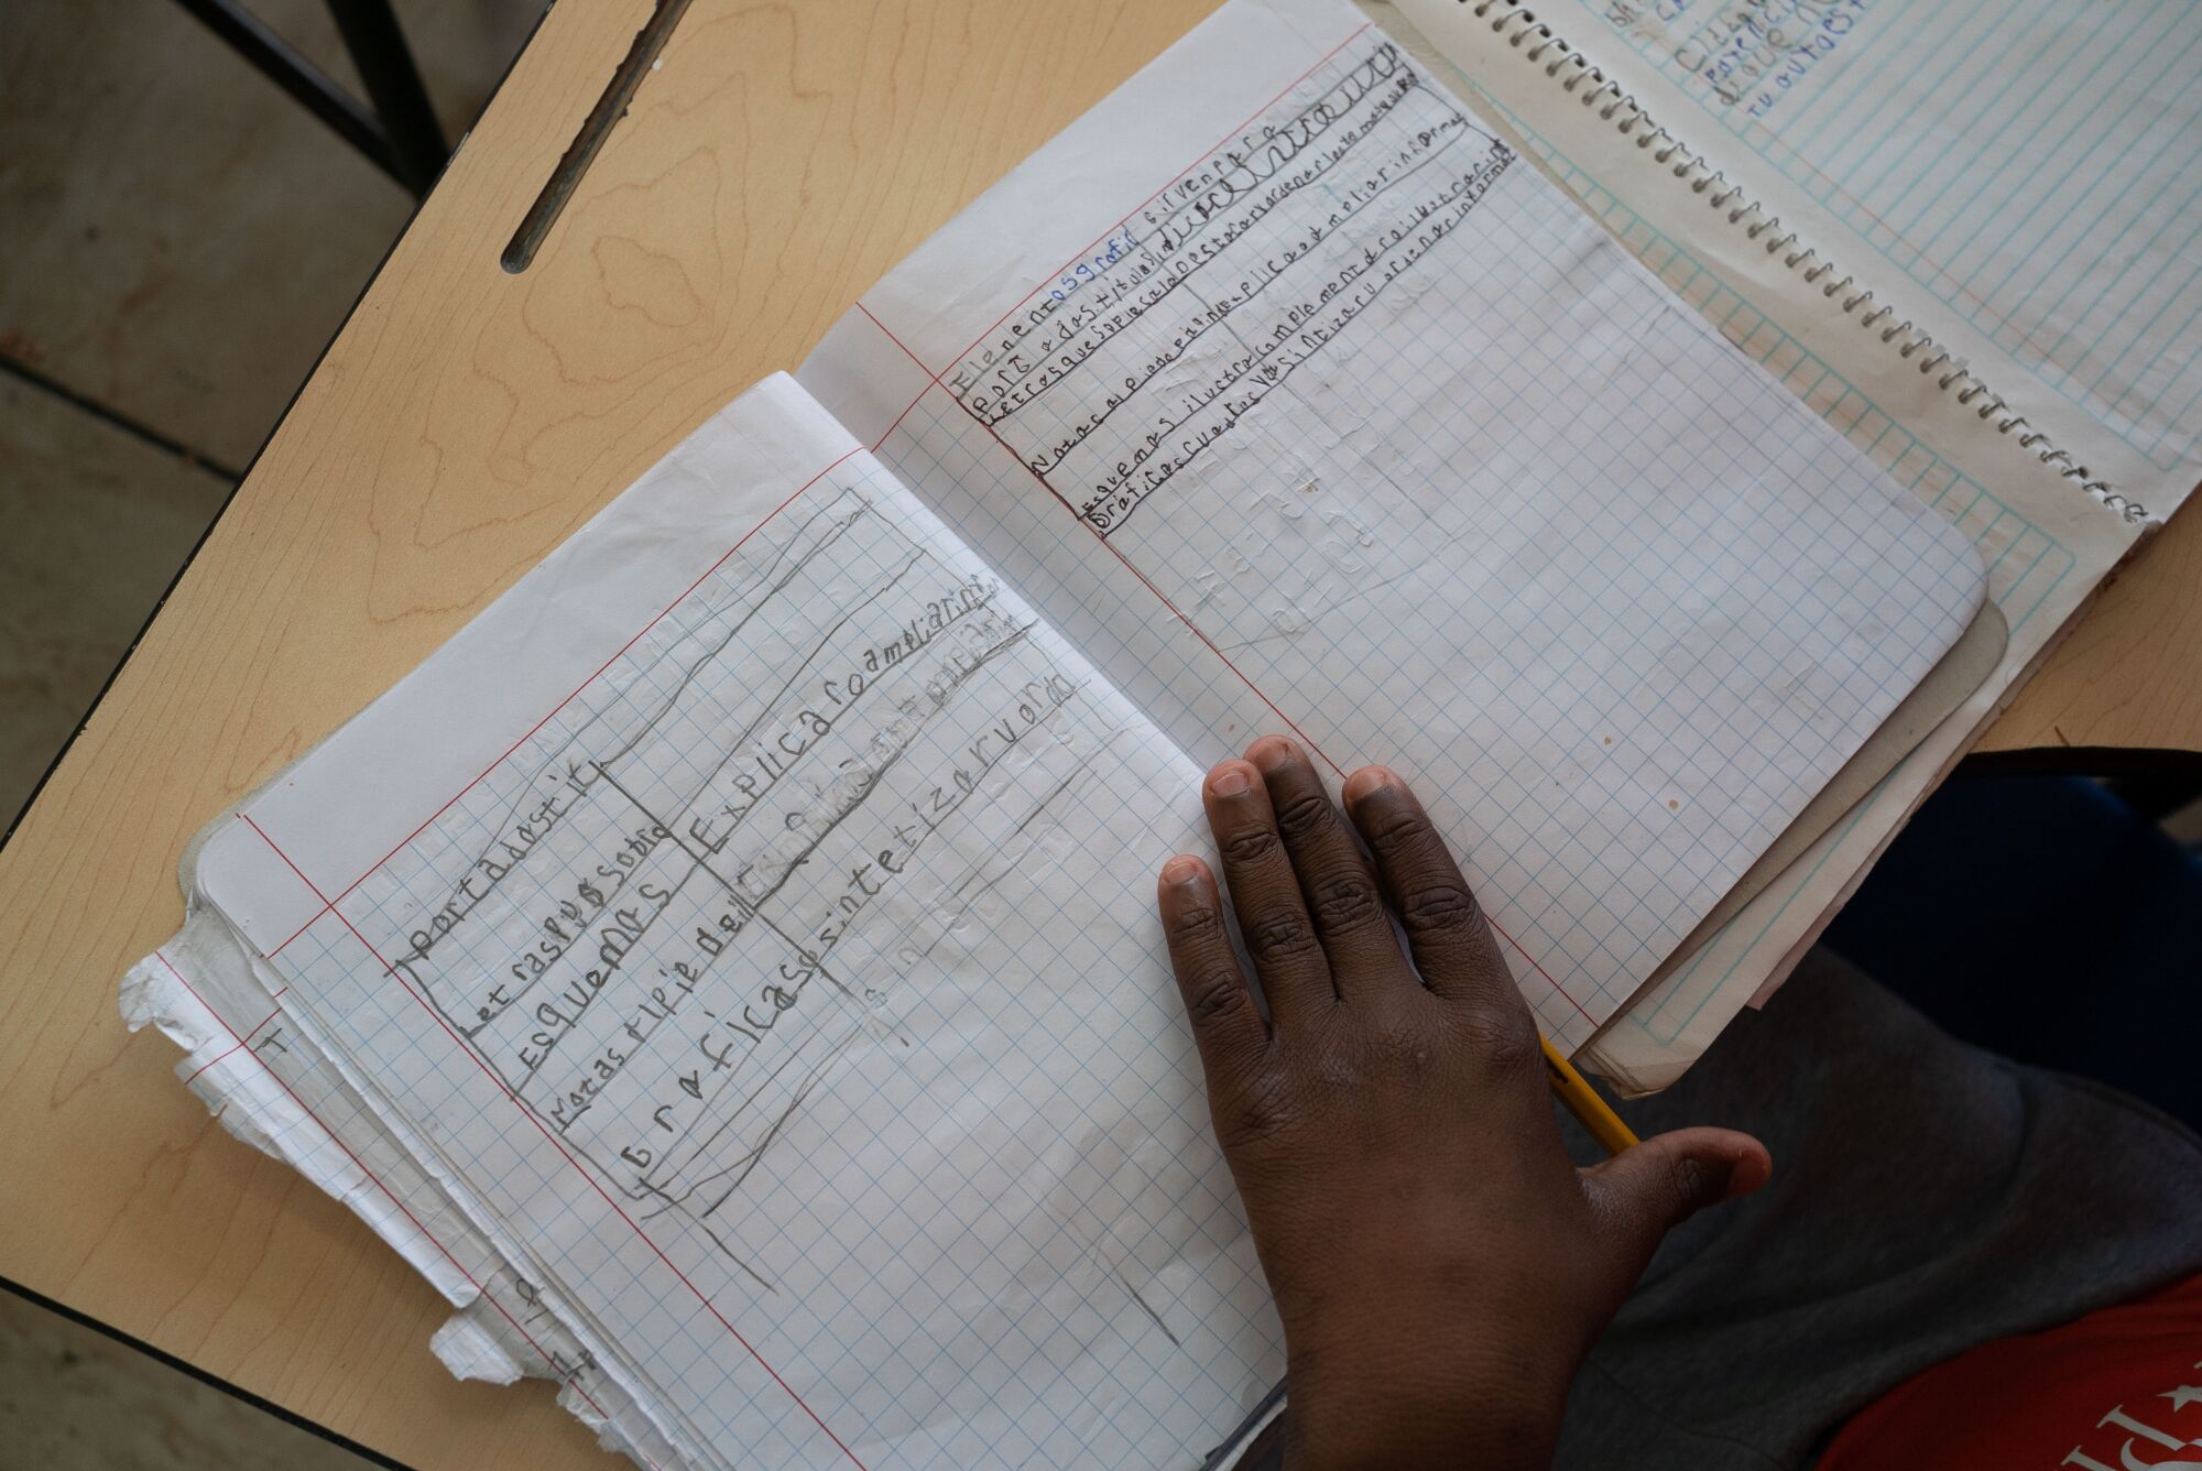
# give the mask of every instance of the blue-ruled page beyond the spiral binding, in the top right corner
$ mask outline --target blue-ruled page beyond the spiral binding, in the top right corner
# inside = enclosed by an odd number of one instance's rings
[[[1403,9],[1416,24],[1467,9],[1489,29],[1522,7]],[[1845,299],[1869,288],[1962,355],[2006,416],[2158,517],[2202,480],[2202,7],[1530,9],[1742,185],[1753,220],[1779,218],[1768,238],[1795,233],[1806,266],[1854,277]]]

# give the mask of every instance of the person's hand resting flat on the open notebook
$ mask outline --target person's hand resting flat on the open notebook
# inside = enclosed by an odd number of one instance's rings
[[[1202,786],[1229,905],[1196,857],[1160,876],[1284,1319],[1286,1464],[1546,1467],[1568,1381],[1658,1240],[1773,1165],[1748,1134],[1693,1127],[1574,1169],[1535,1020],[1422,804],[1383,766],[1341,797],[1343,815],[1264,738]]]

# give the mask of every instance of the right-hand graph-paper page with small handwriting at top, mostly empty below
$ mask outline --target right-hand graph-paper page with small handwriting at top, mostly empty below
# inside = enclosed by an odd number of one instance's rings
[[[1343,4],[1224,7],[799,377],[1200,762],[1407,773],[1568,1044],[1986,586]]]

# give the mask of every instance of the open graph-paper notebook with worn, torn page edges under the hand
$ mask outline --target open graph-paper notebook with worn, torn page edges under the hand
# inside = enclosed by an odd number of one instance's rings
[[[1200,1464],[1282,1374],[1200,769],[1407,771],[1581,1046],[1995,586],[1693,306],[1235,0],[216,821],[126,1011],[643,1464]]]

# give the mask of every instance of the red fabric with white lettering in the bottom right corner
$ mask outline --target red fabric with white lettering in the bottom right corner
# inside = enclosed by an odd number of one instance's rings
[[[2202,1277],[1916,1374],[1819,1471],[2202,1471]]]

